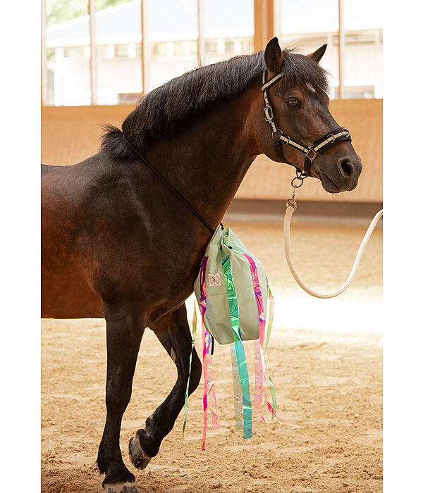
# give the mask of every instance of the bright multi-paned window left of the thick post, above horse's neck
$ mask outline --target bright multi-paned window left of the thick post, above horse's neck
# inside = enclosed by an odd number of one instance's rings
[[[43,1],[47,105],[135,103],[187,70],[254,51],[254,0]]]

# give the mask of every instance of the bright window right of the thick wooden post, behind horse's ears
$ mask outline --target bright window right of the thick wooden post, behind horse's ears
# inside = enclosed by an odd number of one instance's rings
[[[309,54],[328,45],[331,98],[382,97],[382,0],[276,1],[283,46]]]

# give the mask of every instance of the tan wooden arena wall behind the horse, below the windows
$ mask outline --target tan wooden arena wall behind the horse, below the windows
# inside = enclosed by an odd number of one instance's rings
[[[358,187],[342,194],[342,201],[382,201],[382,104],[380,99],[344,99],[329,106],[339,125],[348,128],[355,150],[362,158],[363,172]],[[61,106],[42,108],[42,156],[44,164],[73,164],[99,149],[101,125],[120,127],[133,106]],[[258,156],[240,186],[237,199],[286,199],[294,168]],[[321,188],[317,180],[305,180],[301,199],[339,200]]]

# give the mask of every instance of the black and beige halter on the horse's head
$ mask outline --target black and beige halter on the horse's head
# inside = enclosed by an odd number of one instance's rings
[[[271,80],[267,81],[267,69],[264,68],[263,70],[262,92],[264,99],[264,119],[271,126],[271,138],[274,142],[274,147],[278,158],[281,159],[283,163],[294,166],[302,177],[307,177],[310,176],[310,166],[312,166],[312,162],[317,157],[317,154],[319,154],[319,152],[323,152],[332,144],[343,142],[344,140],[350,141],[350,132],[346,128],[338,127],[331,130],[323,137],[319,137],[319,139],[314,140],[313,144],[308,147],[302,144],[302,142],[299,142],[298,140],[289,137],[289,135],[284,134],[276,122],[269,96],[269,89],[276,84],[281,77],[283,77],[283,73],[279,73],[278,75],[272,77]],[[282,142],[284,145],[295,147],[295,149],[298,149],[305,154],[304,171],[298,168],[298,166],[295,166],[295,164],[290,163],[288,159],[283,156]]]

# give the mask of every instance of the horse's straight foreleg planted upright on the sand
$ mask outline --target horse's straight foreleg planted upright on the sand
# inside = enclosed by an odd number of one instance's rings
[[[135,476],[122,460],[119,447],[122,416],[132,392],[133,375],[145,317],[137,307],[106,306],[107,378],[106,425],[99,445],[97,466],[105,473],[107,493],[137,493]]]

